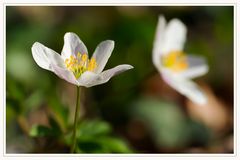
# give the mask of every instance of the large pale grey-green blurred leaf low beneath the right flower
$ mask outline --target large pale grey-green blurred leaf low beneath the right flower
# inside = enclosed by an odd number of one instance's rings
[[[132,107],[132,114],[141,120],[159,147],[184,147],[189,143],[187,118],[176,104],[143,97]]]

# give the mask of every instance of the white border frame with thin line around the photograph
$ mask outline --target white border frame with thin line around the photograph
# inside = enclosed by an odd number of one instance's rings
[[[0,107],[0,111],[3,113],[3,123],[0,123],[0,126],[3,124],[3,127],[0,129],[0,133],[3,133],[3,145],[0,145],[0,152],[2,153],[2,156],[4,159],[76,159],[76,157],[80,157],[81,159],[238,159],[239,158],[239,148],[237,144],[239,145],[239,139],[237,138],[237,132],[239,133],[239,129],[237,128],[237,122],[239,122],[239,119],[237,117],[237,95],[239,92],[238,86],[237,86],[237,80],[239,80],[239,74],[237,74],[237,70],[239,70],[239,67],[237,66],[237,62],[239,61],[239,57],[237,56],[237,52],[239,52],[239,47],[237,46],[238,39],[240,38],[240,33],[237,33],[237,26],[239,26],[239,20],[237,20],[237,17],[239,17],[239,9],[240,9],[240,3],[237,2],[237,0],[212,0],[212,2],[209,3],[209,1],[204,0],[202,3],[197,2],[196,0],[189,0],[189,1],[180,1],[180,2],[174,2],[173,0],[166,0],[159,2],[155,2],[153,0],[150,0],[148,3],[141,0],[140,2],[136,1],[117,1],[117,2],[111,2],[111,0],[104,0],[101,2],[90,2],[87,0],[84,0],[82,3],[64,3],[64,0],[61,0],[61,2],[56,3],[54,0],[47,1],[42,3],[36,1],[36,3],[33,3],[31,1],[25,1],[25,2],[17,2],[17,0],[14,0],[13,2],[6,2],[4,1],[0,7],[3,17],[3,26],[1,26],[1,35],[3,37],[0,47],[3,48],[3,54],[1,54],[1,62],[3,62],[3,69],[1,70],[1,75],[3,75],[3,80],[1,80],[1,88],[2,91],[0,93],[0,97],[3,97],[1,99],[1,104],[3,104],[3,107]],[[62,2],[63,1],[63,2]],[[49,3],[50,2],[50,3]],[[6,153],[6,6],[233,6],[234,9],[234,44],[233,44],[233,50],[234,50],[234,152],[233,153],[224,153],[224,154],[12,154],[12,153]],[[239,115],[239,114],[238,114]],[[1,117],[1,116],[0,116]],[[1,119],[1,118],[0,118]]]

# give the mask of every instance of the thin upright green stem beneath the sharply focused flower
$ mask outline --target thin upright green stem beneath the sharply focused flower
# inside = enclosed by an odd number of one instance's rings
[[[74,117],[74,128],[73,128],[73,141],[72,141],[72,146],[71,146],[71,153],[74,153],[75,151],[75,146],[76,146],[76,134],[77,134],[77,117],[79,115],[79,92],[80,92],[80,87],[77,86],[77,99],[76,99],[76,108],[75,108],[75,117]]]

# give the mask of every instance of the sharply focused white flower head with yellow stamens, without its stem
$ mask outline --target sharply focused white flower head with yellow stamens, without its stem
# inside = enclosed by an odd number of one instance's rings
[[[80,38],[75,33],[66,33],[61,55],[38,42],[32,46],[32,55],[41,68],[74,85],[91,87],[106,83],[114,75],[133,68],[123,64],[103,71],[113,48],[114,41],[103,41],[88,59],[87,48]]]

